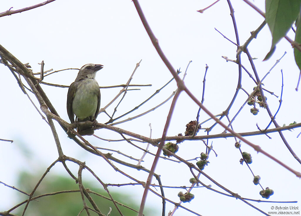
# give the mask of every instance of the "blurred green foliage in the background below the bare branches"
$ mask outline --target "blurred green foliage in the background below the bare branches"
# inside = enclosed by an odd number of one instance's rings
[[[30,193],[35,187],[36,183],[39,181],[40,176],[34,176],[28,172],[23,172],[19,176],[19,183],[17,188]],[[109,197],[107,192],[101,188],[101,184],[95,186],[94,183],[89,181],[83,182],[84,187],[89,188],[91,191]],[[78,184],[75,183],[69,176],[59,176],[47,174],[46,177],[42,180],[42,183],[39,185],[38,189],[34,193],[35,196],[39,196],[47,193],[54,193],[57,191],[67,191],[67,190],[79,190]],[[110,190],[110,189],[109,189]],[[114,200],[120,202],[126,206],[129,206],[135,210],[139,210],[139,204],[135,203],[131,196],[123,193],[111,192]],[[89,193],[92,197],[102,214],[107,215],[109,208],[112,208],[110,216],[120,215],[114,206],[113,202],[102,197],[99,197],[95,194]],[[20,193],[20,202],[27,199],[27,196]],[[93,208],[87,199],[86,203],[89,207]],[[12,213],[17,215],[22,215],[25,204],[21,205]],[[136,216],[135,211],[130,210],[129,208],[118,205],[119,209],[126,216]],[[61,193],[51,196],[43,196],[38,198],[36,201],[31,201],[28,208],[26,209],[25,215],[30,216],[54,216],[54,215],[64,215],[64,216],[76,216],[83,209],[83,202],[80,192],[71,192],[71,193]],[[91,215],[98,215],[93,211],[90,211]],[[145,215],[155,215],[154,212],[150,209],[144,210]],[[87,215],[86,211],[82,211],[80,215]]]

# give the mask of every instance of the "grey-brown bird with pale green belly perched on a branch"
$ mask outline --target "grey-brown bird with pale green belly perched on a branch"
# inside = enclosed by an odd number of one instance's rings
[[[101,64],[86,64],[71,83],[67,94],[67,113],[71,123],[96,122],[100,108],[100,90],[95,76],[102,68]],[[76,115],[75,121],[74,115]],[[93,126],[77,127],[77,132],[82,136],[94,134]]]

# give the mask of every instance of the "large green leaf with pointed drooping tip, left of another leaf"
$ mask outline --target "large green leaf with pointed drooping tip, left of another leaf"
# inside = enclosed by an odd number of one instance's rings
[[[275,45],[292,27],[300,12],[301,0],[265,0],[265,20],[272,33],[272,46],[267,60],[275,51]]]

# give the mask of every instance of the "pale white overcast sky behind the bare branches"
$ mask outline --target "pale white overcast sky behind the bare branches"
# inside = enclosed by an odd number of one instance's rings
[[[11,0],[2,1],[0,12],[4,12],[13,7],[12,10],[35,5],[41,1],[34,0]],[[233,30],[233,23],[230,16],[227,1],[220,1],[203,14],[197,10],[203,9],[214,1],[140,1],[142,10],[157,37],[163,52],[175,69],[181,68],[184,72],[189,61],[192,63],[188,67],[185,84],[199,100],[202,97],[203,76],[206,64],[209,66],[206,76],[205,102],[204,105],[213,114],[220,114],[230,103],[237,86],[237,65],[233,62],[226,62],[222,56],[227,56],[235,60],[237,47],[227,41],[214,28],[219,30],[229,39],[236,42]],[[254,11],[243,1],[232,1],[236,22],[239,30],[240,43],[243,44],[250,36],[250,32],[255,30],[262,23],[264,18]],[[255,0],[262,11],[264,1]],[[167,83],[172,75],[161,61],[154,49],[141,20],[131,1],[60,1],[49,3],[45,6],[25,11],[20,14],[13,14],[0,18],[1,33],[0,44],[11,52],[22,63],[29,63],[33,72],[40,71],[40,63],[44,61],[44,70],[61,70],[66,68],[80,68],[84,64],[103,64],[104,68],[98,72],[96,79],[100,86],[112,86],[125,84],[129,79],[136,64],[142,59],[131,84],[152,84],[148,87],[139,87],[141,90],[128,91],[127,95],[117,109],[116,117],[135,108],[138,104],[147,99],[150,95]],[[294,39],[293,33],[288,35]],[[272,70],[271,74],[263,82],[265,88],[276,95],[281,94],[281,72],[284,74],[284,93],[281,110],[278,113],[277,121],[279,125],[290,124],[293,121],[300,122],[301,114],[299,108],[300,92],[296,92],[296,83],[299,76],[299,69],[293,60],[293,50],[286,40],[281,40],[277,45],[276,52],[268,61],[262,62],[271,46],[271,34],[268,26],[254,39],[249,50],[256,64],[260,78],[275,64],[276,60],[286,51],[287,54]],[[244,66],[251,72],[250,63],[242,54]],[[2,124],[0,126],[0,138],[14,140],[13,143],[0,143],[0,181],[11,186],[16,185],[17,173],[26,170],[36,175],[42,175],[45,169],[57,159],[57,150],[48,125],[40,117],[38,112],[28,100],[27,96],[20,90],[11,72],[3,64],[0,65],[0,91],[2,104]],[[44,81],[62,85],[70,85],[78,71],[66,70],[51,76],[45,77]],[[183,76],[184,73],[180,74]],[[253,91],[255,84],[243,71],[243,88],[249,93]],[[69,122],[66,111],[67,88],[56,88],[42,85],[51,103],[65,121]],[[172,82],[164,88],[149,103],[139,108],[132,114],[122,118],[133,117],[167,99],[176,90],[176,83]],[[136,88],[135,88],[136,89]],[[107,105],[120,88],[101,89],[101,107]],[[38,106],[34,95],[31,98]],[[269,106],[273,113],[279,105],[279,99],[266,93]],[[230,117],[238,111],[240,106],[247,99],[247,95],[240,91],[230,111]],[[129,121],[116,125],[125,130],[149,136],[152,125],[152,138],[162,136],[164,124],[169,111],[171,100],[155,111]],[[116,105],[116,103],[114,104]],[[113,113],[114,105],[107,109],[109,114]],[[185,93],[182,93],[175,108],[175,112],[168,131],[168,136],[175,136],[185,131],[185,125],[195,120],[198,107]],[[201,112],[200,122],[206,120],[208,116]],[[109,119],[101,113],[98,122],[105,123]],[[227,122],[226,119],[223,119]],[[239,117],[234,121],[233,127],[236,132],[248,132],[258,130],[256,123],[264,129],[270,121],[267,112],[262,108],[257,116],[250,113],[250,106],[244,107]],[[202,126],[210,127],[212,122]],[[57,131],[60,136],[64,154],[86,161],[89,167],[98,174],[106,183],[129,183],[132,180],[121,176],[113,171],[106,162],[99,157],[91,156],[81,149],[59,127]],[[271,125],[271,128],[274,128]],[[216,126],[210,134],[221,133],[224,129]],[[299,129],[292,132],[284,132],[287,141],[297,155],[301,155],[300,138],[296,136]],[[96,135],[105,139],[121,139],[116,133],[101,129],[95,132]],[[206,135],[201,130],[198,135]],[[265,151],[276,158],[284,161],[290,167],[300,171],[300,164],[292,157],[281,141],[278,133],[267,136],[248,137],[248,140],[259,145]],[[129,146],[127,142],[105,142],[95,137],[87,137],[93,145],[117,149],[134,158],[140,158],[142,153],[136,148]],[[239,164],[240,152],[234,148],[234,139],[214,139],[213,146],[218,154],[210,154],[210,164],[205,168],[205,172],[223,186],[238,193],[242,197],[250,199],[263,199],[259,195],[259,186],[252,183],[253,176],[244,164]],[[137,143],[136,143],[137,144]],[[145,144],[139,144],[145,148]],[[184,142],[180,144],[178,155],[186,160],[200,156],[206,149],[203,142]],[[300,180],[292,173],[256,152],[249,146],[243,144],[243,151],[252,154],[252,171],[255,175],[261,176],[261,183],[265,187],[270,187],[275,194],[269,201],[300,201],[300,195],[296,194],[299,189]],[[151,148],[153,153],[157,149]],[[106,151],[104,151],[106,153]],[[110,152],[110,151],[109,151]],[[213,153],[213,152],[211,152]],[[113,156],[122,160],[117,153]],[[147,155],[142,163],[147,169],[151,168],[154,157]],[[196,161],[192,161],[195,163]],[[114,163],[115,165],[117,163]],[[78,167],[72,166],[74,173]],[[118,165],[121,169],[137,177],[141,181],[146,181],[147,173],[142,171],[132,171],[128,167]],[[162,177],[163,185],[169,186],[189,186],[191,174],[187,166],[183,164],[171,163],[164,160],[159,161],[156,171]],[[66,171],[60,164],[53,168],[51,174],[64,174]],[[92,178],[87,175],[87,178]],[[118,181],[116,181],[118,178]],[[212,182],[201,177],[206,184],[213,185]],[[153,180],[153,183],[156,183]],[[134,186],[124,188],[109,188],[111,190],[123,189],[125,192],[134,193]],[[219,189],[213,185],[214,189]],[[221,190],[221,189],[219,189]],[[178,202],[177,193],[183,189],[166,189],[166,197]],[[135,186],[135,199],[141,201],[143,188]],[[197,188],[192,191],[195,199],[191,203],[182,204],[201,215],[259,215],[259,211],[249,207],[240,200],[225,197],[204,188]],[[299,192],[298,192],[299,193]],[[5,196],[3,196],[5,194]],[[14,201],[16,192],[3,185],[0,185],[0,211],[5,211],[16,205]],[[158,212],[161,211],[162,200],[149,193],[147,206],[153,207]],[[275,204],[251,202],[265,212],[270,211],[271,206],[301,206],[299,203]],[[172,211],[173,205],[168,203],[166,214]],[[192,215],[187,211],[178,209],[175,215]]]

